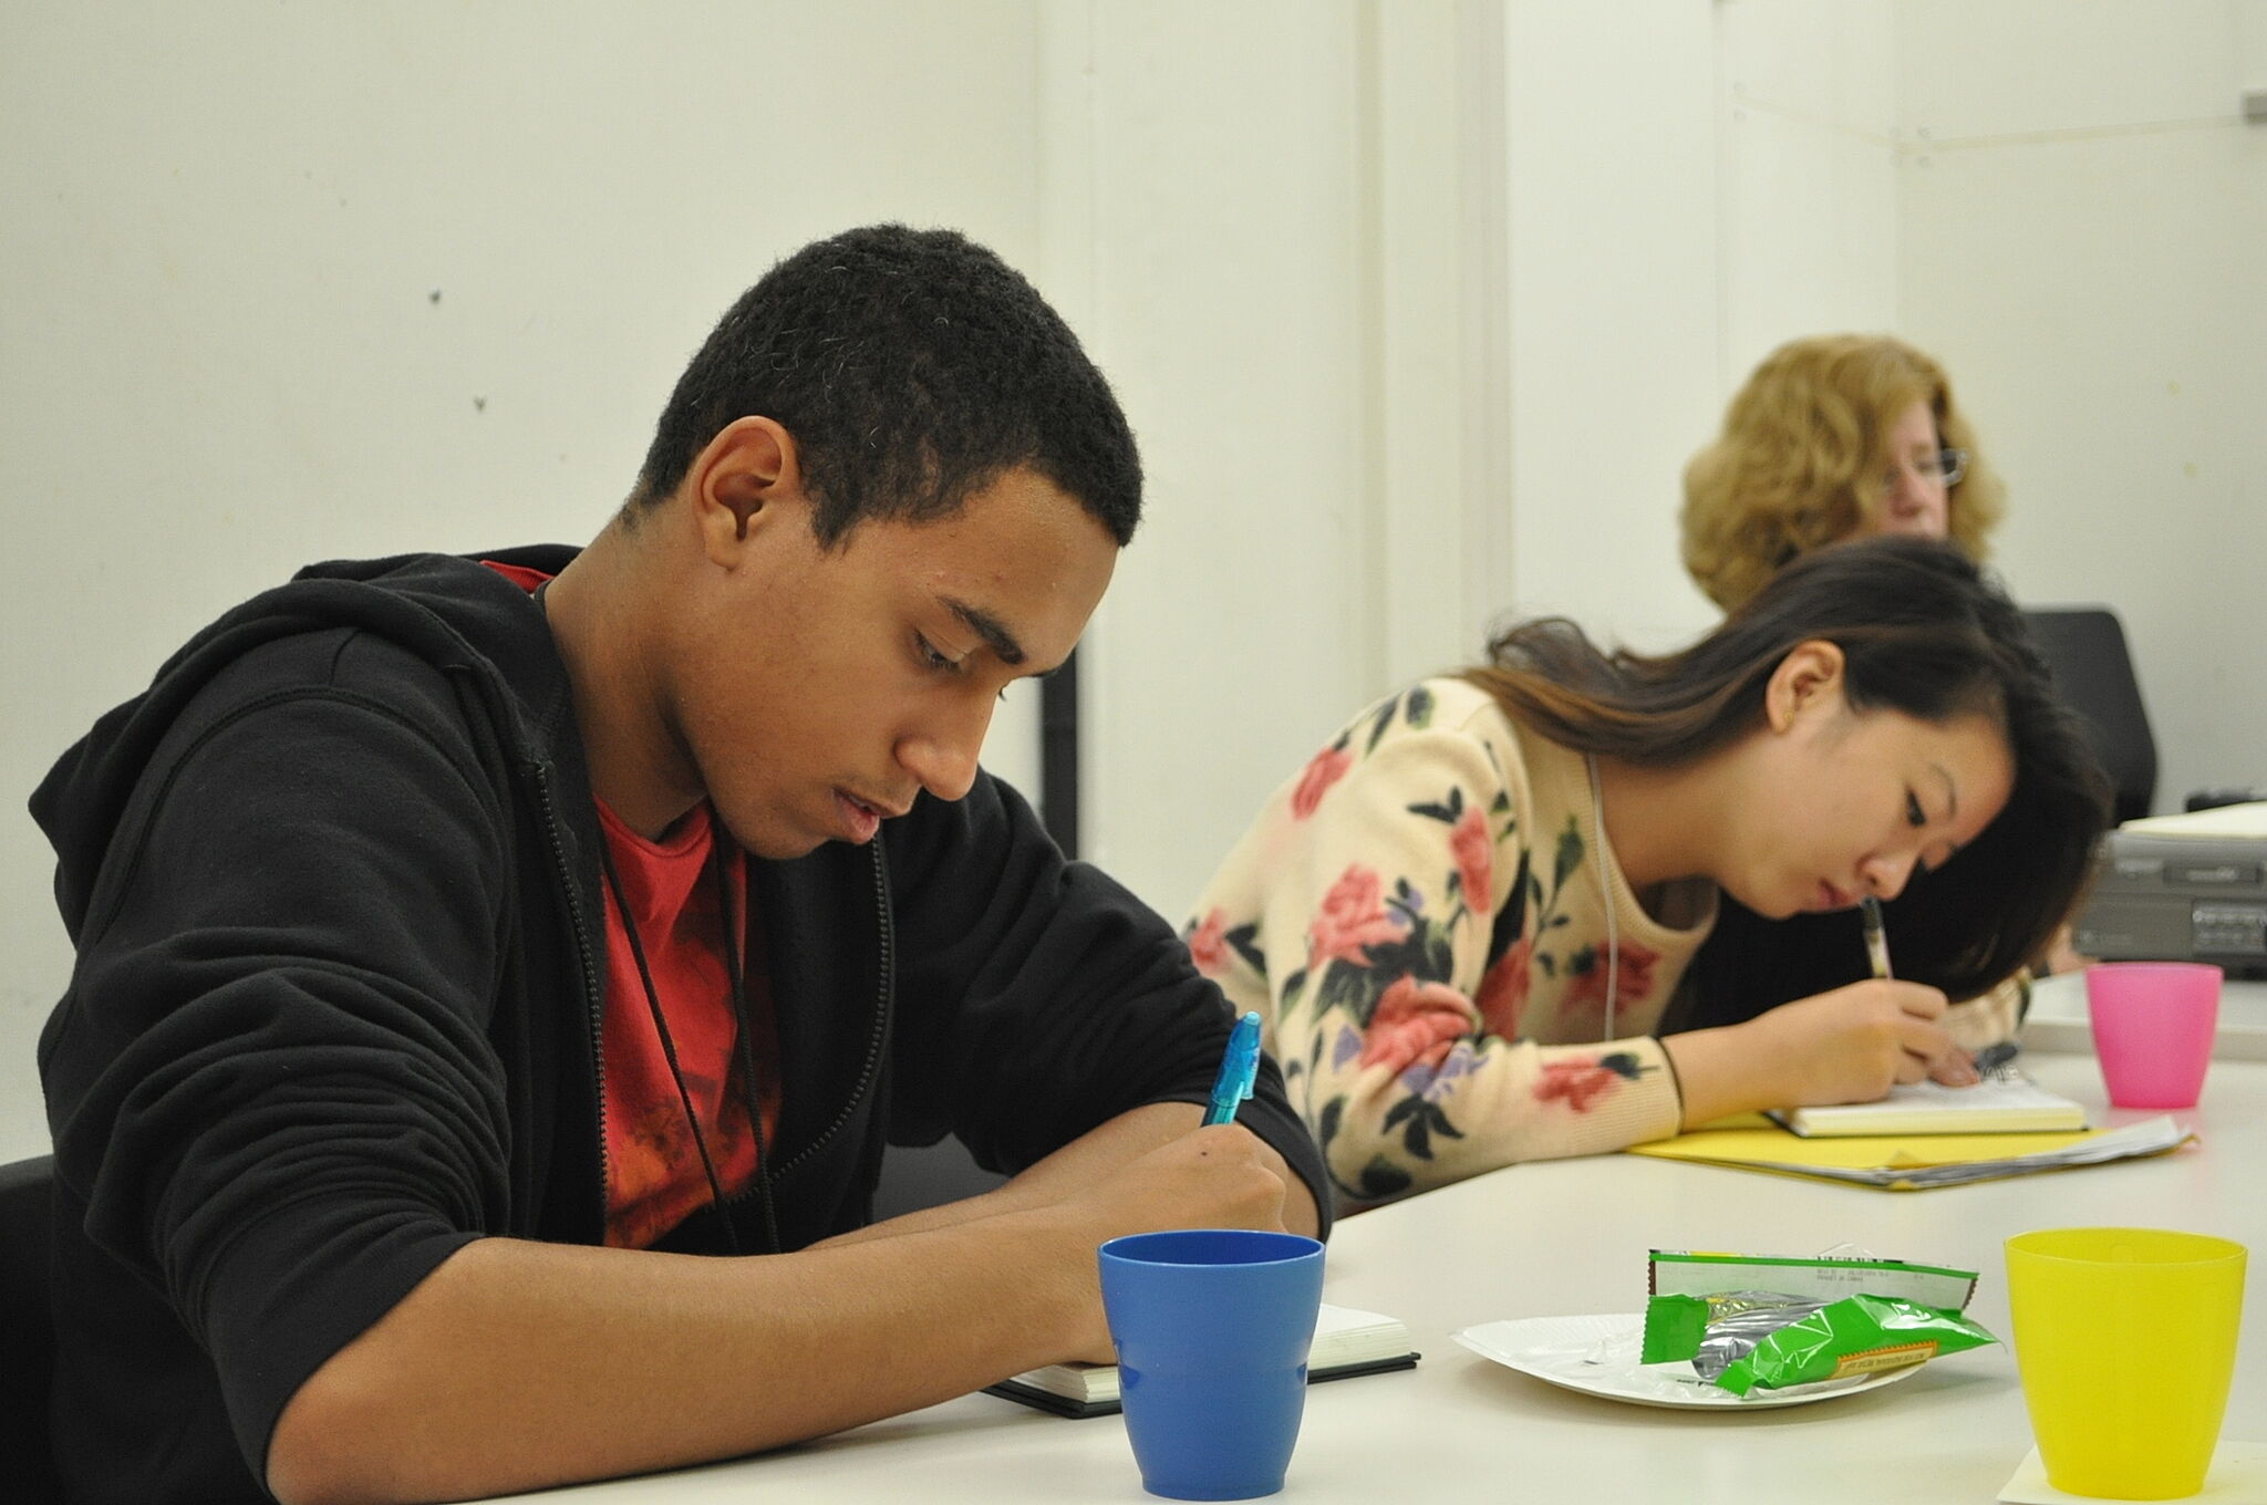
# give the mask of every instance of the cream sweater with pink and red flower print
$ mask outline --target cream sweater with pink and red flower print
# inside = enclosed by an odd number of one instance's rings
[[[1265,1020],[1340,1204],[1362,1206],[1678,1133],[1653,1031],[1714,920],[1707,879],[1630,891],[1580,752],[1426,680],[1267,800],[1183,934]],[[2013,1000],[1961,1013],[1963,1043],[1997,1038]]]

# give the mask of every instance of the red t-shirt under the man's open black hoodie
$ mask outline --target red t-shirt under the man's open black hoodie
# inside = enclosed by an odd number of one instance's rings
[[[530,592],[549,578],[519,564],[490,560],[487,567]],[[735,1197],[753,1185],[757,1156],[755,1136],[748,1131],[732,984],[725,972],[725,916],[719,913],[716,882],[707,870],[716,845],[714,814],[705,802],[696,805],[660,841],[646,841],[623,825],[605,800],[596,805],[608,854],[637,918],[637,938],[646,947],[653,993],[660,997],[662,1018],[669,1020],[669,1038],[678,1047],[685,1095],[691,1097],[694,1115],[701,1120],[716,1181],[725,1197]],[[741,970],[748,1043],[755,1054],[769,1145],[780,1126],[780,1036],[757,959],[757,936],[748,925],[744,852],[730,854],[725,875],[730,922],[746,936]],[[701,1151],[685,1124],[685,1102],[669,1072],[669,1056],[653,1027],[653,1006],[646,1002],[637,952],[630,950],[612,884],[601,882],[598,888],[605,895],[605,1015],[598,1038],[605,1102],[605,1242],[614,1249],[644,1249],[710,1206],[710,1185],[701,1170]]]

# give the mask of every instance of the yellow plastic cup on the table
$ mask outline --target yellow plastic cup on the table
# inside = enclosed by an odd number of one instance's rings
[[[2242,1244],[2165,1228],[2018,1233],[2006,1299],[2049,1485],[2117,1500],[2204,1489],[2235,1374]]]

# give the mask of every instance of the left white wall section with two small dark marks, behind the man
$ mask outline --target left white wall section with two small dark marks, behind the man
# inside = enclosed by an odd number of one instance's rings
[[[54,755],[306,560],[596,533],[685,358],[814,236],[945,222],[1036,267],[1034,29],[1007,0],[0,9],[0,1156],[45,1140],[68,975],[23,809]]]

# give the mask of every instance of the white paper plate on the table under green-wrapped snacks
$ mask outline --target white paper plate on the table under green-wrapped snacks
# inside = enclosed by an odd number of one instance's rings
[[[1730,1389],[1718,1389],[1703,1380],[1680,1380],[1666,1364],[1639,1364],[1637,1353],[1644,1330],[1644,1315],[1612,1312],[1605,1317],[1483,1321],[1449,1337],[1480,1358],[1496,1360],[1519,1374],[1532,1374],[1537,1380],[1610,1401],[1630,1401],[1632,1405],[1703,1410],[1807,1405],[1811,1401],[1834,1401],[1836,1396],[1854,1396],[1882,1385],[1895,1385],[1920,1369],[1920,1364],[1907,1364],[1904,1369],[1857,1374],[1845,1380],[1818,1380],[1816,1385],[1789,1385],[1786,1389],[1750,1389],[1748,1398],[1741,1398]]]

